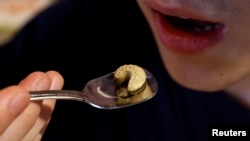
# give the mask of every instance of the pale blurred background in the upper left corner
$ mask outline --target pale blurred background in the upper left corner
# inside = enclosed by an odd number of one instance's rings
[[[0,0],[0,46],[56,0]]]

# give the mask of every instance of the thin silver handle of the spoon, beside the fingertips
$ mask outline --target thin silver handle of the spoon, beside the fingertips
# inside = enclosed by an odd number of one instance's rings
[[[44,100],[44,99],[64,99],[64,100],[78,100],[86,101],[84,93],[74,90],[44,90],[44,91],[30,91],[30,100]]]

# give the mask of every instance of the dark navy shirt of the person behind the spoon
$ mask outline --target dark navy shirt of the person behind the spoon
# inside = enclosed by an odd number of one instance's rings
[[[154,98],[118,110],[59,100],[43,140],[206,141],[210,126],[250,124],[249,110],[224,92],[193,91],[171,79],[136,1],[61,0],[48,8],[0,48],[0,87],[57,70],[64,89],[82,90],[124,64],[155,75]]]

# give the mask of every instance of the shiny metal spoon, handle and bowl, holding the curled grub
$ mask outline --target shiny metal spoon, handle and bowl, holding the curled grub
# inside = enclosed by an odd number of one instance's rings
[[[76,100],[90,104],[100,109],[119,109],[133,106],[151,99],[158,91],[158,84],[155,77],[147,70],[147,83],[152,90],[152,94],[140,101],[120,105],[116,94],[116,86],[113,79],[114,72],[104,75],[100,78],[90,80],[82,91],[75,90],[45,90],[31,91],[30,100],[43,99],[64,99]]]

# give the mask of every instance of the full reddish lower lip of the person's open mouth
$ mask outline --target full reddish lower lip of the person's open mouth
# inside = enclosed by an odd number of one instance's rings
[[[164,46],[174,52],[183,54],[198,54],[214,47],[224,33],[225,26],[202,33],[188,32],[173,27],[164,16],[154,12],[157,34]]]

